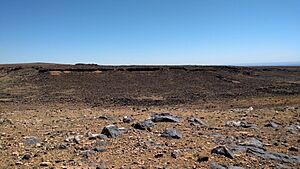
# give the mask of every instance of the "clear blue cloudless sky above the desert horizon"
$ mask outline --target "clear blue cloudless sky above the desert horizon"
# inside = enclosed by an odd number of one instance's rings
[[[0,0],[0,63],[300,61],[300,0]]]

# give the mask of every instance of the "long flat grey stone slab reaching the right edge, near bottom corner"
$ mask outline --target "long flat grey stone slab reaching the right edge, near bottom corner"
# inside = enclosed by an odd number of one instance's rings
[[[300,163],[299,156],[289,156],[283,153],[267,152],[263,149],[255,148],[255,147],[251,147],[251,148],[249,147],[247,149],[247,154],[255,155],[264,159],[277,160],[280,162]]]

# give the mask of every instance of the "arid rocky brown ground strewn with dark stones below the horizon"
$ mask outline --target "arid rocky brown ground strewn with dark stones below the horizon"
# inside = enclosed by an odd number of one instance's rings
[[[300,168],[300,67],[0,65],[0,168]]]

